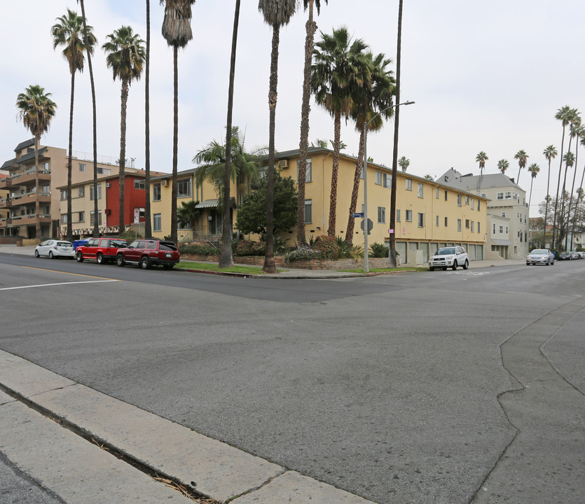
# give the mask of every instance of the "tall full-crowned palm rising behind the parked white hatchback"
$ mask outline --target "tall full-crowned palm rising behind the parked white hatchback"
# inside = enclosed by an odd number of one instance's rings
[[[83,71],[83,51],[85,43],[83,42],[83,18],[77,15],[73,10],[67,9],[67,15],[57,18],[57,23],[51,28],[53,35],[53,49],[58,45],[64,45],[63,56],[69,63],[69,72],[71,73],[71,106],[69,108],[69,160],[67,162],[67,239],[73,239],[71,230],[71,157],[73,151],[73,108],[75,94],[75,73]],[[93,53],[96,38],[93,34],[93,28],[88,26],[89,52]]]

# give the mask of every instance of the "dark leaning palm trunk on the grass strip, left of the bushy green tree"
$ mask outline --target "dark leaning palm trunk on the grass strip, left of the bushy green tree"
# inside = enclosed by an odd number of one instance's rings
[[[233,17],[232,54],[230,58],[230,85],[228,89],[228,125],[226,127],[226,169],[223,172],[223,229],[221,230],[221,254],[219,267],[232,267],[233,226],[230,219],[230,174],[232,144],[233,81],[235,78],[235,53],[238,48],[238,23],[240,21],[240,0],[235,0]],[[238,179],[236,178],[236,187]]]

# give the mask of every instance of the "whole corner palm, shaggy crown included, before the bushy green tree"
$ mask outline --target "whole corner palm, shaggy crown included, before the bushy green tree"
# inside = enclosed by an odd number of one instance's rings
[[[270,111],[270,140],[268,142],[268,172],[266,197],[266,251],[264,253],[265,273],[276,273],[274,262],[274,158],[275,158],[275,126],[276,101],[278,85],[278,45],[280,43],[280,27],[287,25],[296,10],[296,0],[259,0],[258,10],[264,22],[273,29],[272,51],[270,52],[270,85],[268,90],[268,109]]]

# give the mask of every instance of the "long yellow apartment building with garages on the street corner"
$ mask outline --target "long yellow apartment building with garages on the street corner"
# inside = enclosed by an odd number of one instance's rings
[[[299,151],[277,153],[277,166],[283,176],[291,176],[297,181]],[[338,194],[336,213],[336,236],[344,237],[347,220],[350,218],[350,200],[355,173],[356,159],[340,154],[338,171]],[[327,148],[312,147],[308,150],[307,175],[305,183],[305,232],[307,239],[326,235],[329,226],[329,207],[331,204],[331,171],[333,151]],[[212,239],[221,235],[221,215],[217,212],[214,186],[205,181],[197,187],[194,181],[196,168],[180,172],[178,175],[177,207],[188,200],[198,201],[202,217],[196,230],[184,229],[178,232],[179,241],[193,239]],[[368,163],[368,208],[367,214],[373,223],[369,244],[387,244],[390,239],[390,186],[392,170],[373,162]],[[153,235],[170,235],[170,197],[171,177],[151,179],[153,197]],[[238,192],[236,193],[236,186]],[[193,189],[194,188],[194,189]],[[246,181],[232,184],[231,205],[233,221],[237,216],[242,195],[249,190]],[[440,246],[460,244],[467,249],[470,260],[484,258],[486,243],[487,202],[485,197],[472,195],[464,190],[445,186],[405,172],[397,174],[396,243],[403,264],[422,264]],[[234,205],[234,203],[237,204]],[[359,187],[356,212],[364,211],[363,174]],[[354,244],[364,244],[364,234],[360,228],[361,218],[355,221]],[[193,233],[193,231],[195,231]],[[282,239],[294,245],[296,229],[281,233]],[[254,237],[252,237],[254,238]]]

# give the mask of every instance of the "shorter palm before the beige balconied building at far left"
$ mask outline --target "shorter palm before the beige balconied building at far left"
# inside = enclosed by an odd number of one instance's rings
[[[39,85],[30,85],[26,92],[18,94],[16,99],[16,107],[18,109],[18,117],[22,120],[25,127],[34,136],[34,187],[35,187],[35,204],[34,212],[36,216],[36,239],[41,239],[41,219],[39,218],[39,142],[41,135],[48,131],[50,121],[55,116],[55,109],[57,105],[49,97],[50,93],[46,93],[45,89]]]

